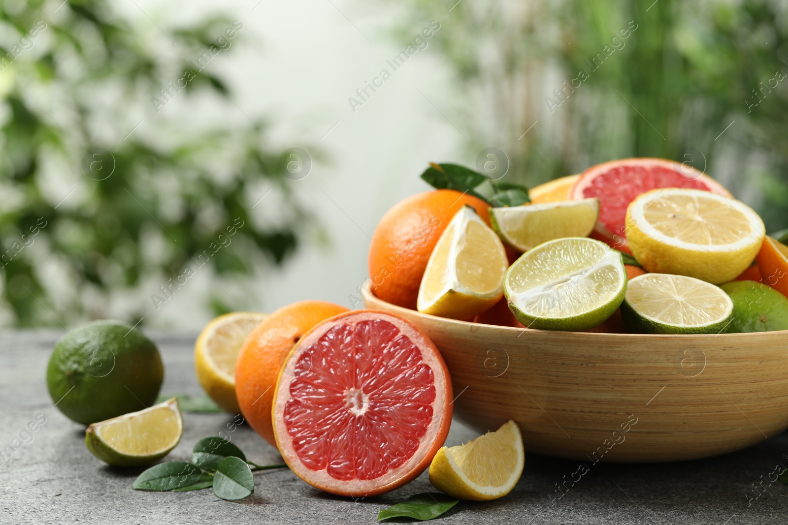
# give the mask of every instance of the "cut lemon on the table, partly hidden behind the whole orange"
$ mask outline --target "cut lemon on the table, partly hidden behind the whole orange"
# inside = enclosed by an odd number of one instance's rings
[[[195,342],[195,370],[206,394],[228,412],[240,413],[236,359],[243,341],[266,314],[231,312],[206,324]]]

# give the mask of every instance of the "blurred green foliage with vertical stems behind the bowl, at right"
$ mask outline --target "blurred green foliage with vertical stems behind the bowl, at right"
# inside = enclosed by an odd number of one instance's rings
[[[507,177],[533,186],[615,158],[667,157],[705,168],[769,231],[788,226],[784,2],[410,4],[402,39],[440,22],[430,46],[454,73],[470,153],[500,147]]]

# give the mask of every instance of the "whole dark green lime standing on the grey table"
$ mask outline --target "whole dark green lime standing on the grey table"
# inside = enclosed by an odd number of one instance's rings
[[[55,406],[85,425],[154,404],[164,380],[158,348],[122,321],[83,324],[54,346],[46,386]]]

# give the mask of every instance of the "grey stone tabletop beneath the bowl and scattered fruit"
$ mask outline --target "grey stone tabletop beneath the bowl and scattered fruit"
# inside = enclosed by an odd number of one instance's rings
[[[60,335],[0,333],[0,449],[14,439],[25,442],[0,460],[0,523],[376,523],[380,508],[431,490],[425,473],[400,490],[354,501],[314,490],[286,469],[257,472],[255,494],[238,502],[222,501],[210,490],[132,490],[143,469],[110,468],[92,457],[84,446],[84,427],[61,416],[50,401],[44,372]],[[191,358],[196,334],[149,335],[165,362],[162,392],[199,394]],[[46,423],[20,438],[37,417],[46,417]],[[184,438],[167,459],[188,460],[198,438],[215,435],[230,422],[229,414],[185,413]],[[455,421],[447,445],[473,437]],[[281,460],[245,425],[233,439],[255,463]],[[488,503],[461,501],[433,523],[786,523],[788,487],[764,481],[777,464],[788,466],[788,434],[708,460],[597,464],[574,486],[567,483],[563,493],[556,484],[577,469],[577,462],[529,455],[511,494]],[[756,492],[753,484],[759,483]]]

